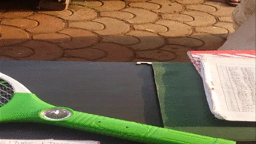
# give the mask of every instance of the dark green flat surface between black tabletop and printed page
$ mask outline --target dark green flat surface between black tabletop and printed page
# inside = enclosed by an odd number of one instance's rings
[[[236,141],[256,141],[253,122],[219,120],[210,112],[202,79],[190,63],[153,63],[166,128]]]

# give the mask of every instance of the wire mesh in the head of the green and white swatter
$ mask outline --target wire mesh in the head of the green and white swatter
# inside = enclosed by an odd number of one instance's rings
[[[13,94],[13,87],[5,80],[0,79],[0,107],[9,102]]]

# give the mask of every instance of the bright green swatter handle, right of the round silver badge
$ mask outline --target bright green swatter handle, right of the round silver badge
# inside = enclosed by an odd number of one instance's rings
[[[59,126],[148,144],[235,144],[234,141],[73,111]]]

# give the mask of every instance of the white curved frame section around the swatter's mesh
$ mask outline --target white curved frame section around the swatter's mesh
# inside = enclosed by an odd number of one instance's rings
[[[17,80],[11,78],[8,75],[0,73],[0,79],[3,79],[6,82],[8,82],[12,86],[14,92],[32,93],[30,90],[27,89],[26,86],[22,85],[20,82],[18,82]]]

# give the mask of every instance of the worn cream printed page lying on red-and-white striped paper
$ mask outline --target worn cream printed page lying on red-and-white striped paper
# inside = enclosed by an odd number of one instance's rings
[[[255,59],[204,55],[201,64],[207,100],[215,117],[255,122]]]

